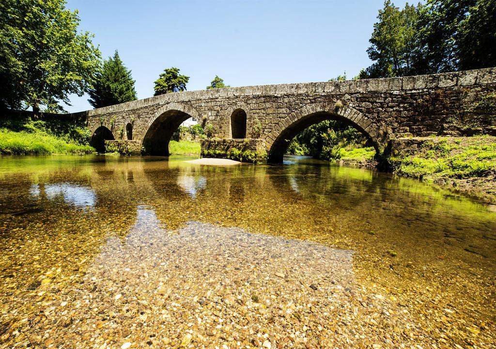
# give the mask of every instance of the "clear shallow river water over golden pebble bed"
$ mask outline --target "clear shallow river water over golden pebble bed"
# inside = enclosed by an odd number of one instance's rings
[[[486,206],[304,157],[184,160],[0,158],[0,346],[495,346]]]

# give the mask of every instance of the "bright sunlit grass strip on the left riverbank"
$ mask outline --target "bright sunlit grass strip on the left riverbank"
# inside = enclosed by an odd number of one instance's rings
[[[0,129],[0,154],[87,154],[94,151],[90,145],[70,143],[40,131],[30,133]]]

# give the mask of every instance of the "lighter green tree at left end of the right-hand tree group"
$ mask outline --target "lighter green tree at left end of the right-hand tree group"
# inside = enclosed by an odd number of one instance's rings
[[[372,46],[367,49],[375,63],[360,77],[402,76],[412,72],[418,15],[419,10],[413,5],[407,3],[400,10],[390,0],[384,1],[369,40]]]

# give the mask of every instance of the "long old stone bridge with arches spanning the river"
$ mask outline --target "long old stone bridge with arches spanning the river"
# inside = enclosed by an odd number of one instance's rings
[[[290,140],[326,119],[361,131],[377,153],[398,138],[494,133],[495,115],[478,109],[496,91],[496,68],[432,75],[232,87],[169,93],[84,112],[92,143],[135,144],[168,155],[180,124],[194,117],[202,147],[241,143],[282,161]],[[494,109],[493,109],[494,113]]]

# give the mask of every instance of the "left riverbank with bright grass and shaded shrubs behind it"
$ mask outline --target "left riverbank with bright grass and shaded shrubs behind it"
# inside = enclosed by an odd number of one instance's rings
[[[33,120],[30,117],[0,121],[0,154],[86,154],[89,130],[69,120]]]

